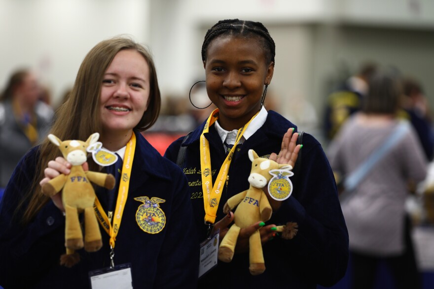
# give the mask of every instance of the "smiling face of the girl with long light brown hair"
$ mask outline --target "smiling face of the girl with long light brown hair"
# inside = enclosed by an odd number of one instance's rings
[[[121,50],[107,68],[101,87],[102,135],[131,135],[149,99],[149,66],[136,50]]]

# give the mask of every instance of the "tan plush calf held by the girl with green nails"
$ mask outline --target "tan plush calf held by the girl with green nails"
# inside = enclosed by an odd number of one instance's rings
[[[249,150],[249,159],[252,161],[252,170],[249,176],[250,188],[229,198],[223,207],[224,213],[228,213],[237,205],[234,213],[234,223],[224,236],[218,249],[218,259],[223,262],[230,262],[234,256],[240,229],[251,226],[259,221],[270,220],[272,209],[262,188],[264,188],[273,177],[270,170],[287,169],[291,170],[289,164],[278,164],[275,161],[259,158],[253,150]],[[297,231],[296,223],[288,223],[286,226],[279,226],[278,231],[283,231],[282,237],[291,239]],[[262,254],[261,237],[259,230],[256,230],[249,239],[250,244],[250,273],[258,275],[265,271],[264,257]]]

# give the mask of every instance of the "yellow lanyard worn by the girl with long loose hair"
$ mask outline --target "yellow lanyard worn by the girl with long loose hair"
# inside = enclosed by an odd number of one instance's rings
[[[114,209],[113,225],[109,220],[106,212],[104,212],[98,197],[95,198],[95,214],[100,224],[104,227],[106,232],[110,236],[110,247],[114,248],[114,242],[116,241],[117,233],[119,232],[120,221],[122,220],[122,214],[127,202],[128,189],[130,187],[131,168],[133,166],[134,151],[136,150],[136,135],[133,132],[130,141],[127,143],[125,150],[124,161],[122,165],[122,173],[119,184],[119,192],[116,200],[116,207]]]

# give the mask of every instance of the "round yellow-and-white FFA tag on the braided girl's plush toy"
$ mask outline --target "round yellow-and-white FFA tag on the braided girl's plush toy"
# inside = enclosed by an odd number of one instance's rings
[[[289,198],[292,193],[292,182],[289,180],[294,173],[289,170],[273,169],[269,172],[274,177],[268,183],[270,196],[278,201]]]

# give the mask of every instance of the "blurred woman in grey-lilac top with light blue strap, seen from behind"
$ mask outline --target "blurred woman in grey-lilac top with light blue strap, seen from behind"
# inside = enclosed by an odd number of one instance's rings
[[[404,122],[400,137],[390,142],[389,150],[384,150],[356,188],[341,194],[347,194],[341,198],[341,206],[350,236],[355,289],[373,288],[382,259],[397,288],[421,287],[405,201],[408,183],[425,178],[427,161],[416,132],[397,116],[400,95],[396,78],[376,73],[369,82],[362,111],[343,125],[328,147],[333,171],[348,177],[373,152],[382,150],[380,147]]]

